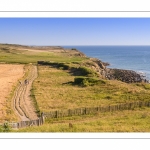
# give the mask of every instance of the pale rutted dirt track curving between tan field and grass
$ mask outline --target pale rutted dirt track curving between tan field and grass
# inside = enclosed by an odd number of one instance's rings
[[[15,91],[13,98],[14,110],[20,117],[21,121],[36,120],[38,119],[33,101],[30,97],[30,90],[32,82],[37,77],[37,67],[31,66],[26,81],[20,82],[20,85]]]

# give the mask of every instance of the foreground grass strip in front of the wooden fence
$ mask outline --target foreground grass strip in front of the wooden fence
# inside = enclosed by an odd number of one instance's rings
[[[49,119],[39,127],[13,132],[150,132],[150,108],[137,108],[88,116]],[[73,127],[69,127],[72,123]]]

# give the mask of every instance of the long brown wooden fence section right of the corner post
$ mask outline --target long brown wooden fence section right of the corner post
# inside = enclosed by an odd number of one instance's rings
[[[130,103],[113,104],[109,106],[99,106],[99,107],[83,107],[68,110],[56,110],[50,112],[44,112],[45,118],[63,118],[69,116],[80,116],[89,115],[98,112],[113,112],[119,110],[133,110],[138,107],[150,107],[150,101],[138,101]]]

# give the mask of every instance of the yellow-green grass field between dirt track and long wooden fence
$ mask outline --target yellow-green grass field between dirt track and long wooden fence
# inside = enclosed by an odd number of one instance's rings
[[[38,66],[38,71],[39,76],[33,84],[33,89],[43,112],[145,101],[150,98],[149,84],[103,80],[105,84],[81,87],[70,84],[76,76],[70,75],[68,71],[50,66]]]

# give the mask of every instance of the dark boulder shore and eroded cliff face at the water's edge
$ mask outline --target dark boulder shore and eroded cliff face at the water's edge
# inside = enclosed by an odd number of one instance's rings
[[[80,51],[78,51],[80,52]],[[83,53],[81,52],[82,56]],[[79,55],[78,55],[79,56]],[[84,56],[86,56],[84,54]],[[125,70],[125,69],[116,69],[116,68],[107,68],[109,66],[109,63],[102,62],[101,60],[97,58],[91,58],[89,59],[91,64],[90,67],[91,69],[94,69],[100,77],[103,77],[108,80],[120,80],[122,82],[126,83],[150,83],[149,80],[145,79],[145,77],[137,73],[136,71],[133,70]]]

